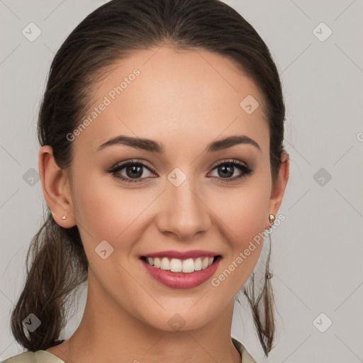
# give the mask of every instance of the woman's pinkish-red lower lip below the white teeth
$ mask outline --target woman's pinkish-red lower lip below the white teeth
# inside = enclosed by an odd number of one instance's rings
[[[207,281],[213,276],[213,274],[215,274],[220,262],[220,257],[218,257],[216,261],[206,269],[190,273],[171,272],[165,269],[158,269],[157,267],[151,266],[143,259],[140,259],[140,261],[143,262],[147,272],[165,286],[172,287],[174,289],[191,289],[192,287],[203,284],[203,282]]]

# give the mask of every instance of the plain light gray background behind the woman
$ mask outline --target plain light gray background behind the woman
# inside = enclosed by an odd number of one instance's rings
[[[0,0],[0,360],[23,351],[9,318],[26,250],[43,221],[36,118],[45,77],[65,37],[104,2]],[[286,220],[272,233],[277,347],[264,358],[243,301],[235,304],[233,335],[258,362],[363,362],[363,1],[225,2],[255,27],[277,62],[291,157],[279,211]],[[30,22],[41,30],[32,42],[22,33]],[[324,41],[322,22],[333,31]],[[62,337],[82,317],[85,286],[81,292]]]

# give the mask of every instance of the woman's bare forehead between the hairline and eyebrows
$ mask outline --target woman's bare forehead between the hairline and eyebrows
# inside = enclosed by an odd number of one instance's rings
[[[95,152],[116,135],[160,140],[167,149],[241,133],[268,147],[262,94],[233,62],[215,53],[139,50],[113,64],[93,91],[96,101],[84,115],[89,122],[75,139],[77,148],[88,145]],[[252,113],[245,108],[249,104],[252,111],[257,107]]]

